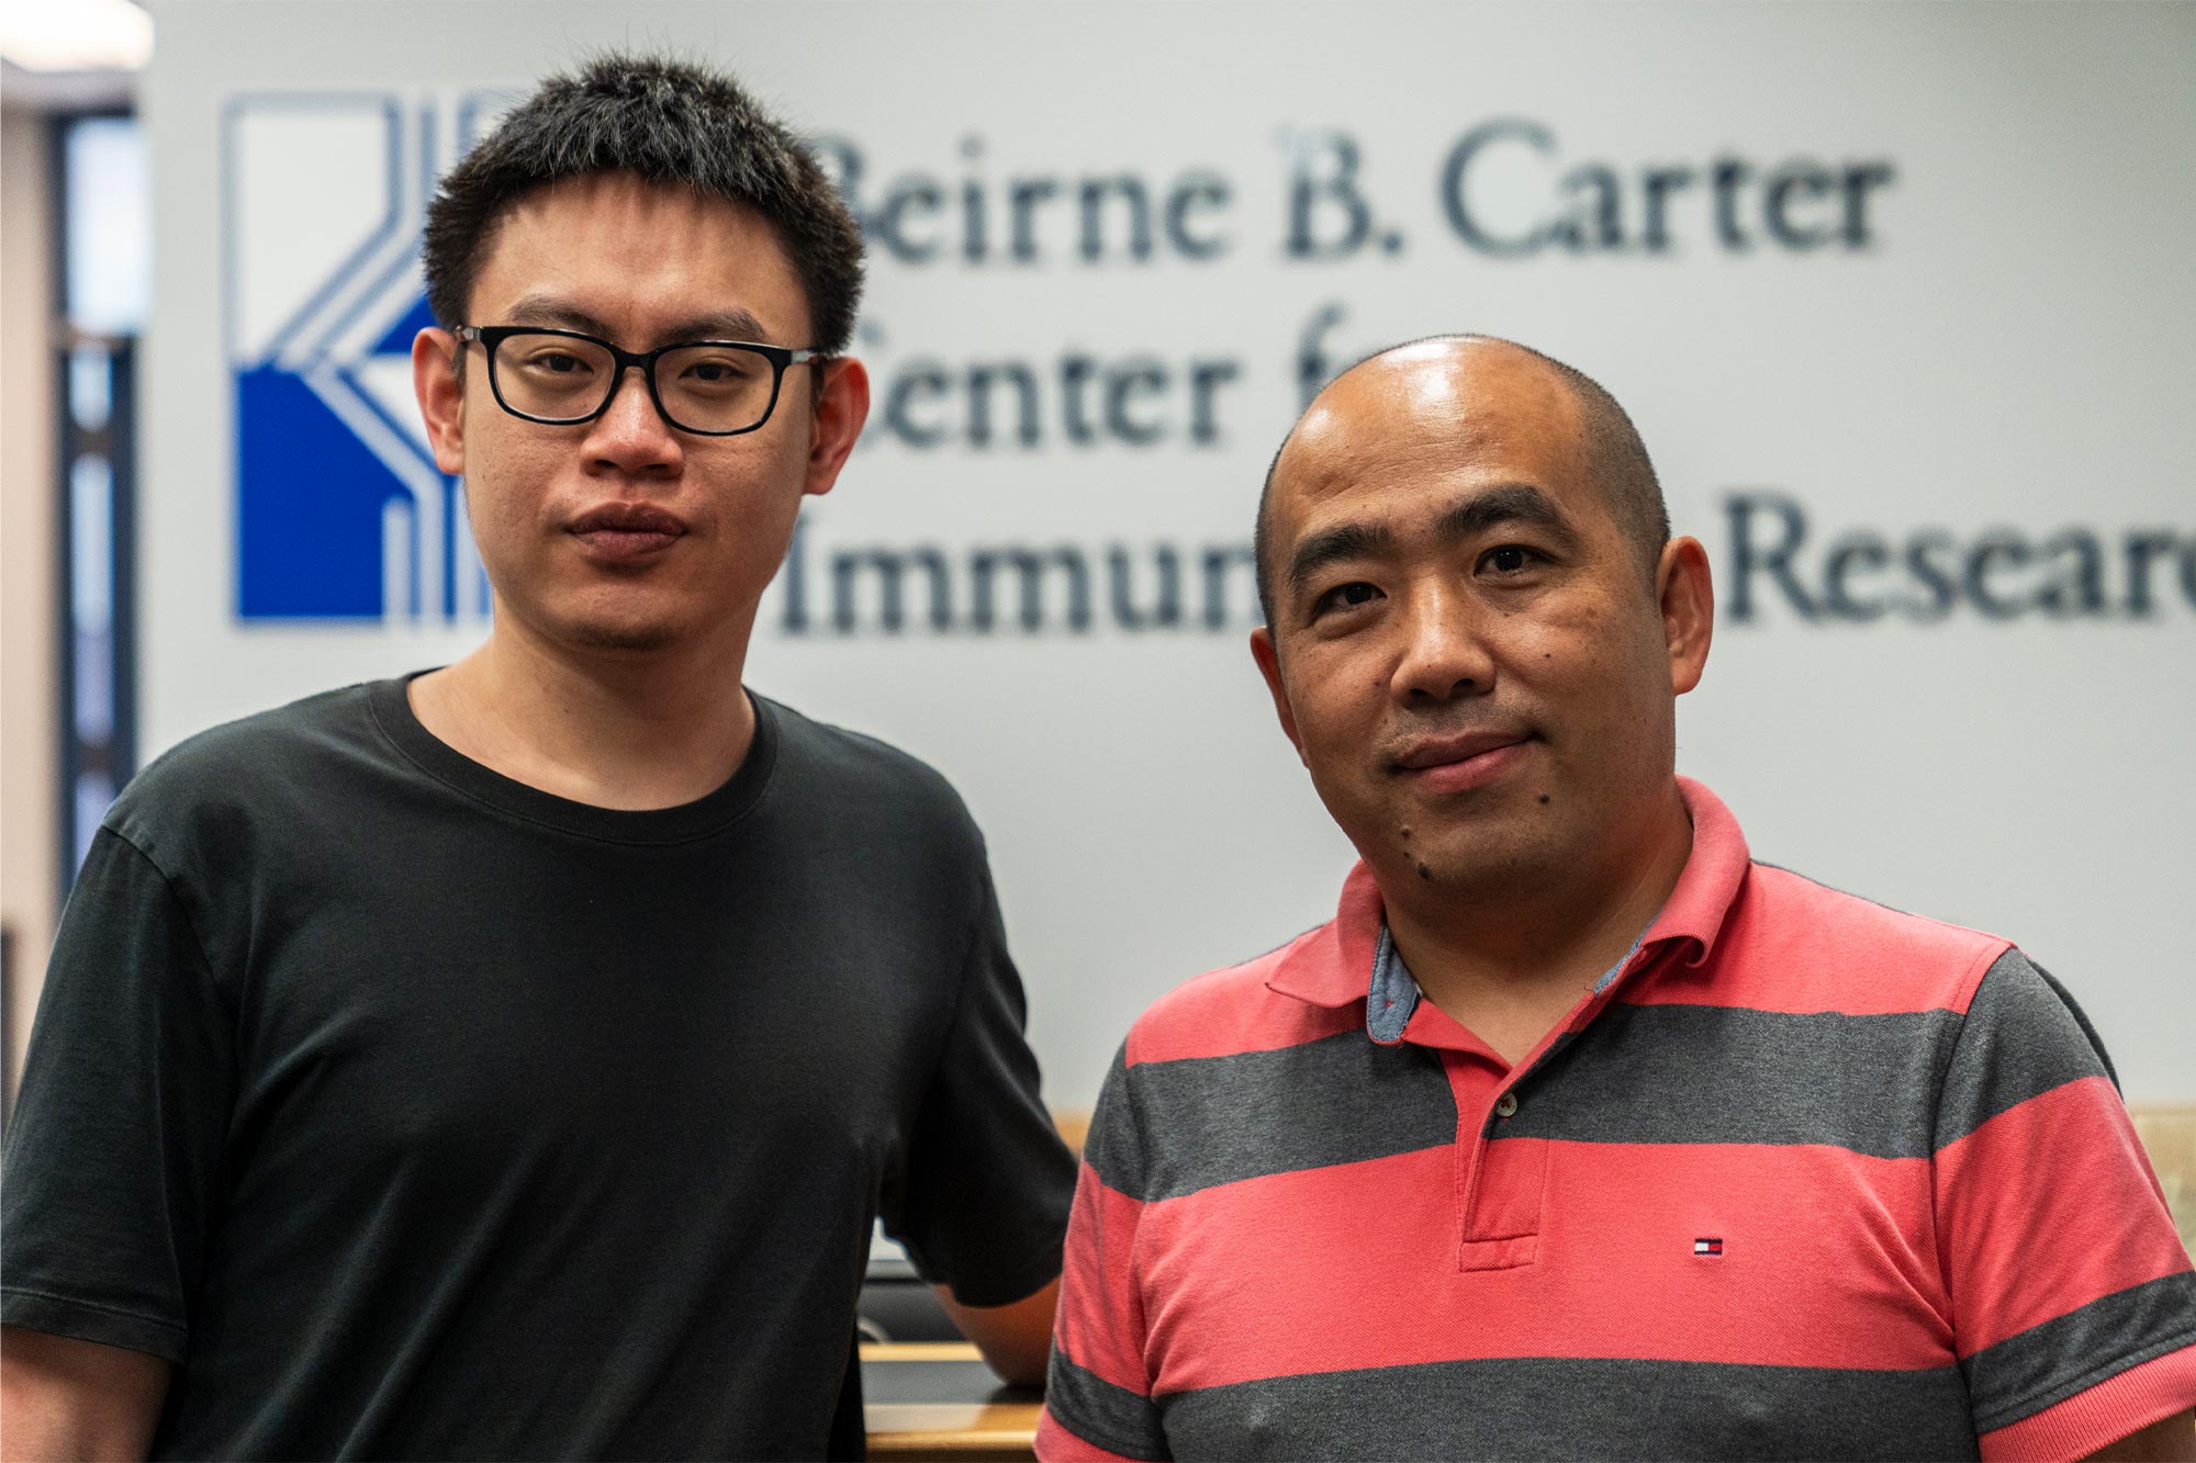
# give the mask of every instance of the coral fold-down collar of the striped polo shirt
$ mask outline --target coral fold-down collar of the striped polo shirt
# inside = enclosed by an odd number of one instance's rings
[[[1715,949],[1715,938],[1724,929],[1724,918],[1746,883],[1750,855],[1739,822],[1730,808],[1700,782],[1678,778],[1678,795],[1693,817],[1693,852],[1678,874],[1678,887],[1669,892],[1662,912],[1640,936],[1640,949],[1667,942],[1691,947],[1687,964],[1702,964]],[[1366,999],[1381,967],[1401,964],[1381,960],[1390,951],[1388,918],[1381,907],[1379,885],[1364,859],[1351,868],[1342,881],[1342,903],[1335,918],[1289,947],[1274,964],[1265,986],[1276,995],[1289,995],[1311,1006],[1348,1006]],[[1621,967],[1618,967],[1621,969]]]

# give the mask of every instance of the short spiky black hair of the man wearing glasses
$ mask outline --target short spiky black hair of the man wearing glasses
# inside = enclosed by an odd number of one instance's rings
[[[472,325],[472,283],[505,213],[589,174],[632,174],[753,209],[786,248],[813,338],[837,356],[861,303],[861,226],[815,154],[720,70],[606,53],[531,97],[452,167],[426,211],[426,301],[446,330]]]

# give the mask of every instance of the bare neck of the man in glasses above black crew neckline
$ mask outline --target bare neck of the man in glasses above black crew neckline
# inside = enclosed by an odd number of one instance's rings
[[[419,725],[527,786],[600,808],[672,808],[722,786],[755,738],[736,650],[589,652],[505,622],[411,683]]]

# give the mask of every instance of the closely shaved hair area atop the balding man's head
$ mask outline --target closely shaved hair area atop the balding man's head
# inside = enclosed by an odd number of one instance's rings
[[[1647,459],[1647,444],[1640,442],[1638,428],[1632,426],[1632,417],[1616,404],[1616,398],[1603,391],[1601,382],[1586,371],[1568,367],[1553,356],[1544,356],[1528,345],[1517,345],[1515,340],[1471,334],[1425,336],[1421,340],[1405,340],[1401,345],[1390,345],[1383,351],[1375,351],[1329,382],[1320,395],[1311,400],[1311,406],[1304,409],[1304,415],[1296,420],[1296,426],[1289,428],[1289,435],[1282,437],[1280,448],[1274,453],[1274,461],[1265,470],[1265,488],[1258,492],[1258,527],[1252,540],[1258,558],[1258,606],[1265,613],[1267,624],[1274,622],[1274,479],[1282,472],[1285,459],[1289,457],[1289,444],[1296,442],[1304,422],[1309,422],[1315,413],[1322,413],[1333,389],[1357,371],[1388,367],[1456,376],[1465,362],[1480,351],[1522,354],[1546,369],[1555,384],[1561,387],[1572,406],[1575,448],[1579,453],[1586,481],[1599,490],[1603,503],[1607,503],[1610,516],[1616,518],[1616,527],[1638,549],[1640,569],[1647,576],[1647,582],[1654,582],[1656,560],[1662,554],[1662,545],[1669,543],[1669,507],[1662,503],[1662,483],[1656,479],[1654,464]],[[1405,362],[1399,360],[1399,356],[1410,356],[1412,360]],[[1467,413],[1463,411],[1467,404],[1469,402],[1458,402],[1460,435],[1469,431],[1465,422]]]

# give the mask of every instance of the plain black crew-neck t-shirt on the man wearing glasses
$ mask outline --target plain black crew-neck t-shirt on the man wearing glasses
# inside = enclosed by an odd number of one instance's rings
[[[176,1362],[156,1456],[859,1445],[872,1215],[1004,1305],[1074,1164],[960,800],[755,710],[654,813],[488,771],[402,681],[160,758],[61,918],[4,1320]]]

